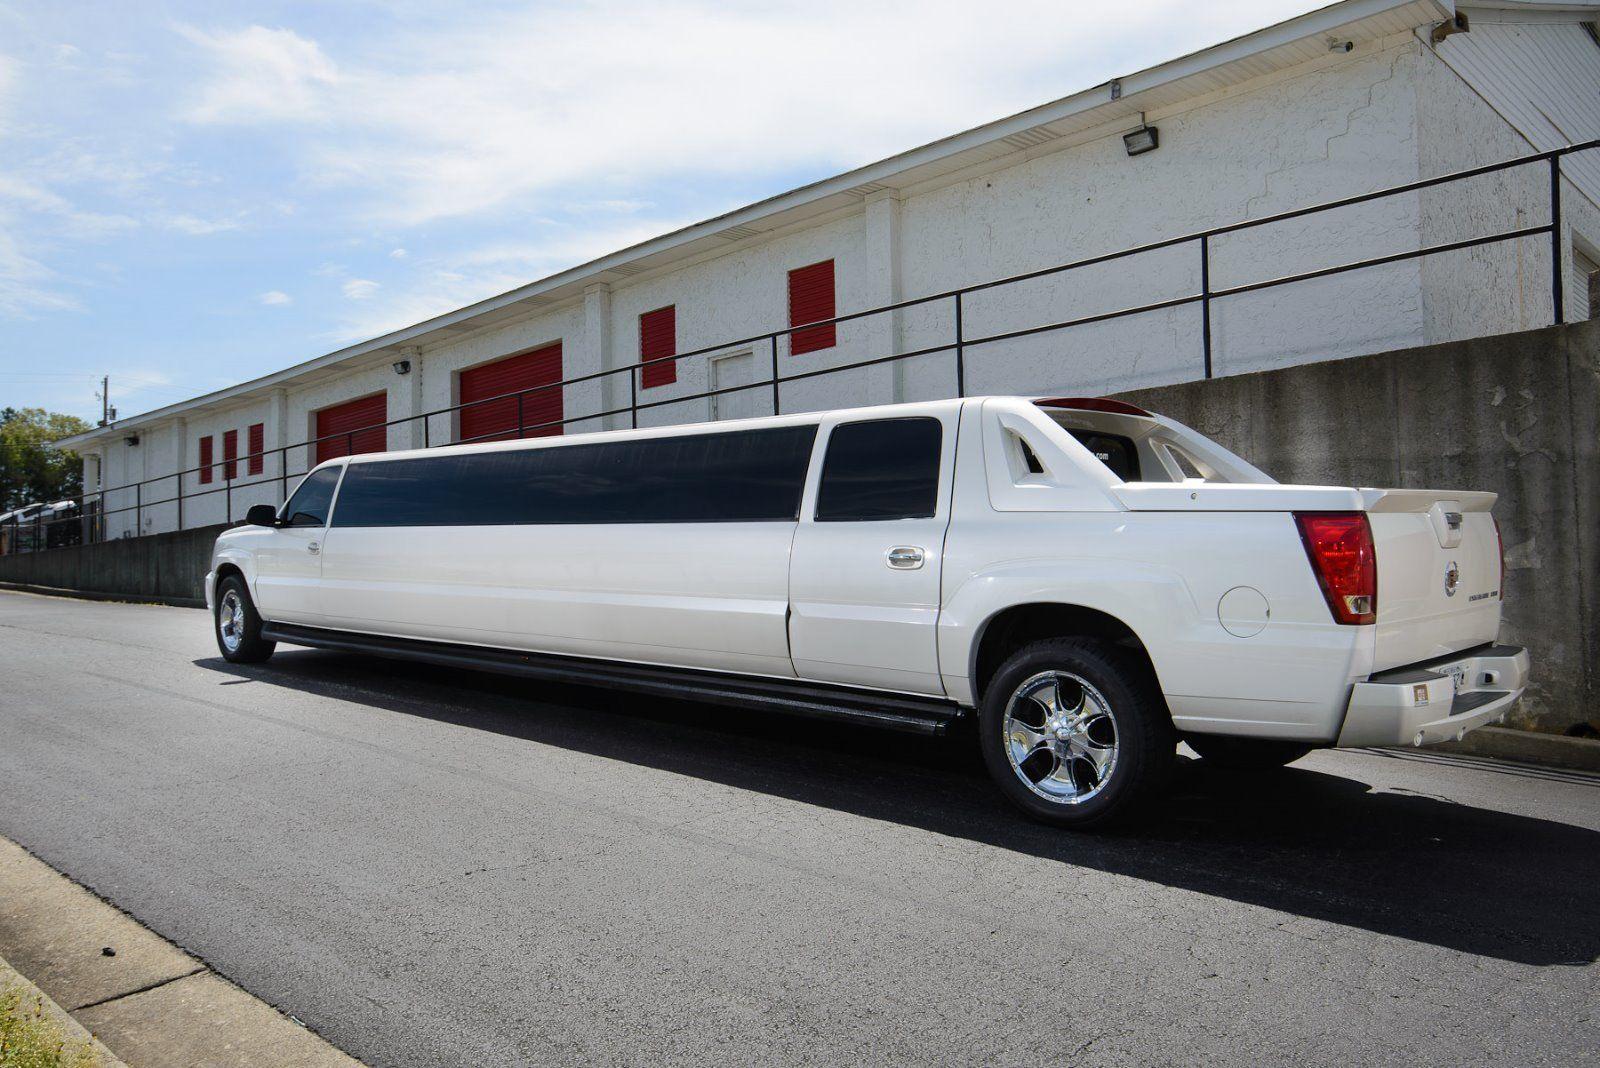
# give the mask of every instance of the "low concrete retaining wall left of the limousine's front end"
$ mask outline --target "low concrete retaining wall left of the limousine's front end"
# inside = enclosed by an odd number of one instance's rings
[[[203,603],[211,547],[226,529],[227,524],[218,523],[152,537],[0,556],[0,582]]]

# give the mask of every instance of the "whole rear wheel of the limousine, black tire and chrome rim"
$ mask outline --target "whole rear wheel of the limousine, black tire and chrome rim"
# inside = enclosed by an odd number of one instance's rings
[[[978,729],[1013,804],[1080,830],[1125,822],[1158,796],[1178,745],[1146,665],[1090,638],[1018,649],[984,691]]]

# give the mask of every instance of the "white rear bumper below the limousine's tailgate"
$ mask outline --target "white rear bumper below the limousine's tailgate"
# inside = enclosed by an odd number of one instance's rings
[[[1350,689],[1334,745],[1432,745],[1494,723],[1528,686],[1528,651],[1480,646],[1381,671]]]

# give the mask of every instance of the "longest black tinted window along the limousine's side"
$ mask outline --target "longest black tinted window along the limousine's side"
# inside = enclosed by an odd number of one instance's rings
[[[334,526],[795,520],[816,427],[352,464]]]

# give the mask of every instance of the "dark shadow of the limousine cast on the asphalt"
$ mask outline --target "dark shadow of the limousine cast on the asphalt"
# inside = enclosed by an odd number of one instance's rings
[[[962,731],[928,739],[325,651],[195,664],[1462,953],[1600,959],[1600,833],[1304,767],[1243,775],[1179,758],[1144,823],[1083,835],[1014,812]]]

